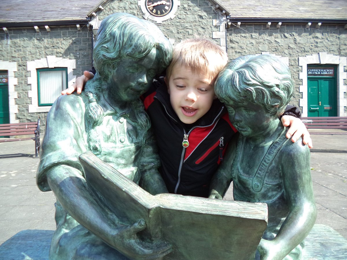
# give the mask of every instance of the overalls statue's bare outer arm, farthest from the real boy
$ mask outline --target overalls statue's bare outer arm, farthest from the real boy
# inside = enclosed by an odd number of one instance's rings
[[[310,173],[310,151],[299,143],[281,150],[281,171],[289,214],[272,241],[262,239],[261,259],[283,259],[301,243],[316,220]]]

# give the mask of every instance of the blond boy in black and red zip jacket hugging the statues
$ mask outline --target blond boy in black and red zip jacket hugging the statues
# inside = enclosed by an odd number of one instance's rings
[[[237,132],[213,89],[226,63],[227,54],[217,44],[204,39],[183,41],[174,47],[166,77],[143,95],[159,147],[159,170],[170,193],[208,197],[212,175]],[[88,77],[92,75],[85,72],[63,94],[76,85],[79,93]],[[289,124],[289,118],[282,121]],[[287,137],[295,132],[292,141],[296,141],[305,132],[304,143],[311,144],[304,124],[294,117],[290,121]]]

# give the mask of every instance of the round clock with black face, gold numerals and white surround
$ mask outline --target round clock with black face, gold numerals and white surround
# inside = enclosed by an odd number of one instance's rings
[[[137,5],[141,8],[145,19],[160,24],[176,16],[180,0],[138,0]]]

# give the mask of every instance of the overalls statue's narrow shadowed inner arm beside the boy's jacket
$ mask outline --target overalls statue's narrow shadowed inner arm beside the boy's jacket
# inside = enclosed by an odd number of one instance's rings
[[[223,162],[212,177],[209,194],[211,199],[222,199],[230,186],[232,181],[231,167],[235,158],[237,139],[234,136],[229,142]]]

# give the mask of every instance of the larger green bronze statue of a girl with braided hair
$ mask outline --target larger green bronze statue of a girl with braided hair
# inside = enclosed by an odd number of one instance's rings
[[[150,193],[167,192],[139,97],[171,55],[167,38],[146,20],[114,14],[102,21],[95,77],[82,95],[60,96],[47,116],[36,180],[57,198],[50,259],[158,259],[171,251],[168,244],[139,239],[143,220],[122,225],[100,206],[78,161],[91,150]]]

